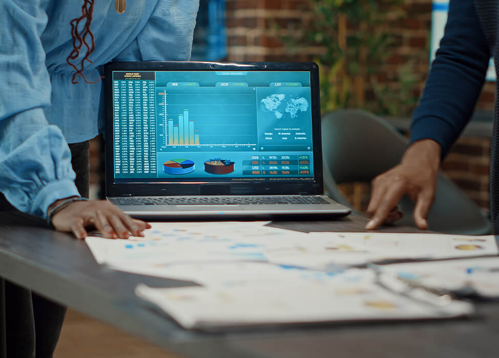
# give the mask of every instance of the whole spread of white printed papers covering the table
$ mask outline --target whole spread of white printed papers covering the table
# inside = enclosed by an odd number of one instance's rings
[[[185,328],[450,318],[473,307],[447,291],[472,286],[499,297],[499,287],[486,284],[499,258],[414,262],[497,255],[492,235],[302,233],[266,224],[153,223],[144,238],[86,242],[113,269],[198,283],[136,289]],[[413,262],[382,264],[402,260]]]

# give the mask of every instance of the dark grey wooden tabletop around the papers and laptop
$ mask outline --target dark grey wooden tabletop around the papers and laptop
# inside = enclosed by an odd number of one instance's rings
[[[300,231],[363,231],[365,222],[349,216],[272,225]],[[416,230],[390,227],[383,231]],[[95,262],[83,241],[17,213],[0,213],[0,276],[186,356],[469,358],[499,354],[499,304],[493,302],[479,302],[479,317],[474,319],[187,331],[150,309],[134,295],[134,288],[139,282],[157,287],[191,283],[107,269]]]

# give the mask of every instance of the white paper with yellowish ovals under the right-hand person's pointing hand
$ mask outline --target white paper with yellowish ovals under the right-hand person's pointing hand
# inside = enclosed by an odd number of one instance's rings
[[[309,233],[294,246],[268,250],[269,261],[326,270],[330,264],[362,265],[397,259],[497,255],[493,235]]]

